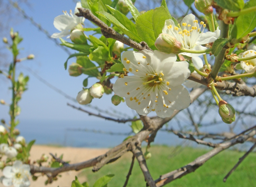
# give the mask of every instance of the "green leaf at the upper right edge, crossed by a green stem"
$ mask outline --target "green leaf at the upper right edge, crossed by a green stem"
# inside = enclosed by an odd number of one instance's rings
[[[244,8],[250,8],[256,6],[255,0],[248,1]],[[244,14],[239,16],[234,21],[234,26],[231,30],[232,38],[242,38],[249,34],[256,27],[256,12],[249,12],[248,14]]]

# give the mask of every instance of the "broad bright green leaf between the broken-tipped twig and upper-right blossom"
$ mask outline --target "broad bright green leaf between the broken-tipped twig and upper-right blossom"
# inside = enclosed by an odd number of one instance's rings
[[[162,33],[166,19],[169,19],[169,13],[163,6],[160,6],[145,12],[136,20],[138,34],[153,50],[156,49],[155,40]]]

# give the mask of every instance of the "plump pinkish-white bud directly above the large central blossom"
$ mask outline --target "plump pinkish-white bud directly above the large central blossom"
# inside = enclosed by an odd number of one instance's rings
[[[181,43],[176,40],[175,37],[169,34],[160,34],[155,41],[156,48],[164,53],[175,53],[181,52]]]

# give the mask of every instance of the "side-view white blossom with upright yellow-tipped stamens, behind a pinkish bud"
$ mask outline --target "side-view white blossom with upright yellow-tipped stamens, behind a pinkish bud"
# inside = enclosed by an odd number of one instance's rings
[[[199,26],[200,24],[200,26]],[[204,33],[206,24],[201,21],[198,24],[198,20],[195,19],[193,14],[189,14],[183,18],[178,27],[175,26],[173,20],[168,19],[165,21],[164,28],[162,33],[169,34],[175,37],[181,44],[183,48],[191,50],[204,50],[207,49],[202,44],[208,44],[214,42],[220,37],[220,30],[217,27],[217,30],[214,32]],[[203,30],[201,31],[201,29]],[[201,31],[201,33],[200,33]],[[187,55],[189,57],[196,57],[202,54],[193,54],[193,53],[181,53],[182,55]]]

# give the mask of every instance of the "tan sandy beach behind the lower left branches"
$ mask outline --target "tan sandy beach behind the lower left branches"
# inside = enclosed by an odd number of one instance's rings
[[[43,153],[49,156],[49,153],[57,154],[59,157],[61,154],[63,154],[63,160],[64,161],[70,161],[70,163],[77,163],[86,161],[89,159],[92,159],[94,157],[97,157],[101,154],[104,154],[107,152],[108,149],[95,149],[95,148],[71,148],[71,147],[51,147],[46,145],[34,145],[31,148],[30,155],[31,155],[31,162],[36,161],[41,157]],[[52,184],[48,184],[48,187],[70,187],[71,182],[75,179],[75,176],[77,176],[81,171],[69,171],[61,173],[62,177],[58,177],[59,179],[57,181],[53,181]],[[0,172],[0,176],[2,176],[2,172]],[[36,174],[36,176],[39,176],[39,174]],[[86,181],[86,177],[78,177],[79,181],[82,183]],[[44,182],[47,180],[46,176],[40,176],[36,181],[32,181],[31,179],[31,185],[30,187],[45,187]],[[2,184],[0,184],[1,186]]]

